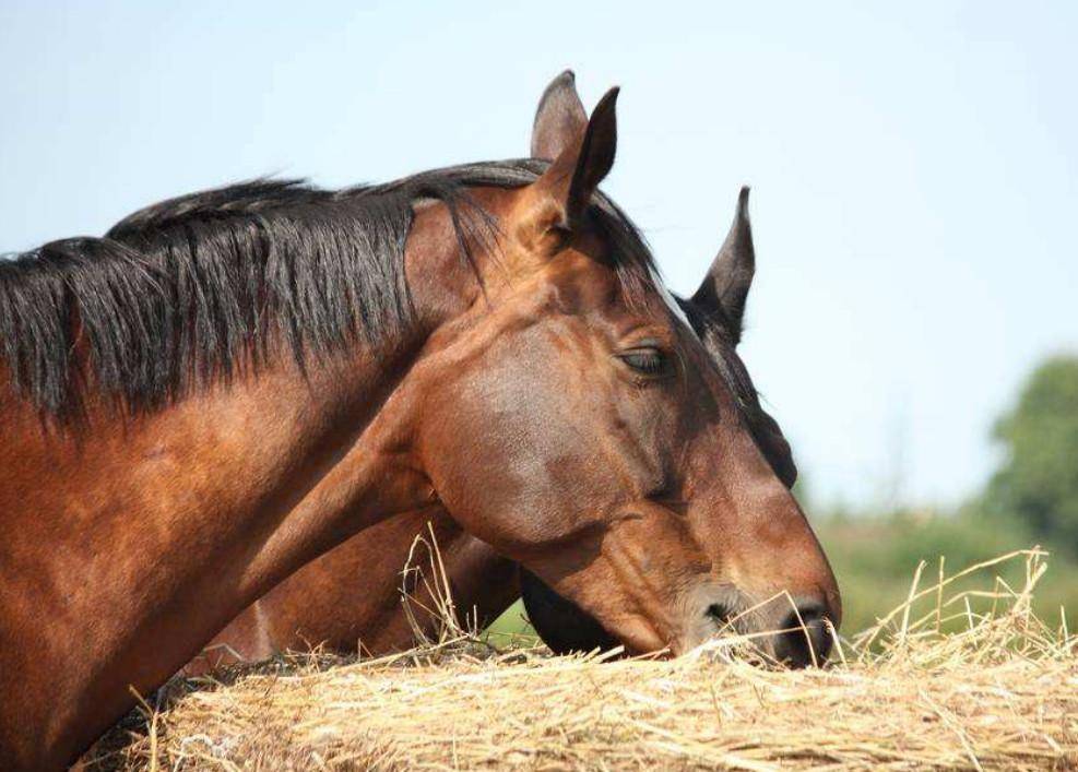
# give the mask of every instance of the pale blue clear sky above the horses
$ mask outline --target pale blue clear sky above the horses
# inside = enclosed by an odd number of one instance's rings
[[[1078,4],[0,0],[0,252],[262,175],[526,154],[612,85],[604,189],[691,293],[753,186],[743,357],[817,500],[949,506],[1078,351]]]

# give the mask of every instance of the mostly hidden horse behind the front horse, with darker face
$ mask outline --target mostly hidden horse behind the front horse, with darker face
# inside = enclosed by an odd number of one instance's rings
[[[544,98],[536,110],[535,129],[564,119],[583,121],[583,105],[571,73],[556,79],[546,94],[560,93],[559,99]],[[558,115],[545,115],[560,110]],[[533,152],[542,136],[533,138]],[[736,343],[741,314],[755,273],[756,253],[749,225],[748,190],[742,191],[730,233],[701,283],[695,298],[676,298],[694,332],[723,367],[722,347],[715,345],[711,325],[725,324],[723,336]],[[712,317],[710,294],[715,287],[725,293],[737,285],[742,293],[727,312]],[[709,322],[709,318],[710,322]],[[787,486],[796,479],[796,466],[781,429],[756,397],[745,378],[739,399],[750,409],[744,415],[765,458]],[[357,645],[370,654],[400,651],[415,642],[412,625],[425,623],[429,632],[438,620],[434,615],[410,619],[402,605],[401,569],[410,556],[410,545],[423,536],[430,523],[441,549],[441,560],[450,582],[452,598],[461,614],[479,627],[500,615],[520,594],[516,566],[488,545],[461,531],[445,512],[428,518],[407,513],[387,520],[333,548],[305,566],[263,597],[256,601],[218,633],[205,651],[188,664],[189,674],[239,661],[264,658],[281,651],[303,651],[323,646],[340,653],[354,653]],[[608,649],[617,641],[591,617],[560,598],[542,580],[524,574],[524,601],[530,618],[546,643],[558,653]],[[418,604],[431,606],[434,598],[417,587]],[[825,652],[819,652],[822,654]],[[805,652],[808,654],[808,652]]]

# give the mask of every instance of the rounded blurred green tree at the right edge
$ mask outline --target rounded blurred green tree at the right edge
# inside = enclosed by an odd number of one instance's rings
[[[993,438],[1006,456],[984,508],[1078,555],[1078,356],[1040,365],[1018,404],[996,421]]]

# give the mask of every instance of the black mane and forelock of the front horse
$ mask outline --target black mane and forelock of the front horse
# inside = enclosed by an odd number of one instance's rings
[[[103,238],[0,260],[0,357],[24,396],[70,418],[87,376],[128,411],[154,409],[257,368],[274,341],[303,367],[356,341],[394,340],[412,323],[403,258],[415,203],[448,207],[471,263],[495,224],[467,189],[521,187],[544,168],[491,162],[337,191],[254,180],[149,206]],[[608,199],[596,194],[592,211],[627,297],[639,297],[650,252]]]

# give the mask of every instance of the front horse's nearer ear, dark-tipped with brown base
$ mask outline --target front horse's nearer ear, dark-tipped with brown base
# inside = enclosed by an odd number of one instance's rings
[[[528,222],[540,238],[572,230],[614,165],[617,94],[617,87],[606,92],[583,130],[532,185],[534,209]]]

